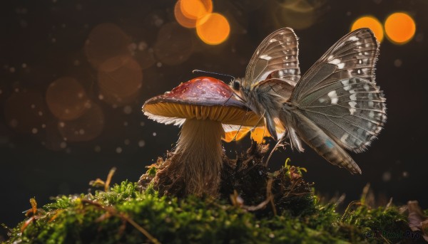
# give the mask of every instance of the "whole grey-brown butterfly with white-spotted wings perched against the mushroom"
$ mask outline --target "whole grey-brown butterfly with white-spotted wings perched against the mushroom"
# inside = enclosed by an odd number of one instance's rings
[[[244,78],[230,83],[245,104],[263,117],[267,132],[302,142],[352,174],[360,167],[345,150],[362,152],[386,122],[383,92],[374,81],[379,43],[369,28],[343,36],[304,75],[298,39],[281,28],[256,49]]]

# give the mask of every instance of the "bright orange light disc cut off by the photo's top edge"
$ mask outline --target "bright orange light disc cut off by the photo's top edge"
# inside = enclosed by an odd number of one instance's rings
[[[180,0],[180,9],[183,15],[190,19],[199,19],[213,11],[210,0]]]

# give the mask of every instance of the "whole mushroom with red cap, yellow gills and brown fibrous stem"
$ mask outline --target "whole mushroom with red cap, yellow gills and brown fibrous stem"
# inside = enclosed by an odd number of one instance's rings
[[[181,83],[147,100],[142,110],[151,120],[182,126],[173,153],[156,173],[155,184],[166,191],[183,190],[183,194],[197,196],[218,193],[225,131],[260,122],[260,117],[233,96],[228,85],[209,77]]]

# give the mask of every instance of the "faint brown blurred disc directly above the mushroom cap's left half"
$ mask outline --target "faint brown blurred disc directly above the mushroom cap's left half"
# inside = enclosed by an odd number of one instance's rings
[[[156,58],[167,65],[178,65],[188,60],[193,51],[191,33],[171,22],[162,26],[153,47]]]

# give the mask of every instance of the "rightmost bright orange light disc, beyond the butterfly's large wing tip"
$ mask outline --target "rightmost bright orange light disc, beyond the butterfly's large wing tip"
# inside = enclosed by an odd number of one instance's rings
[[[393,43],[407,43],[413,38],[415,31],[414,20],[408,14],[394,13],[385,21],[385,33],[387,33],[389,41]]]

